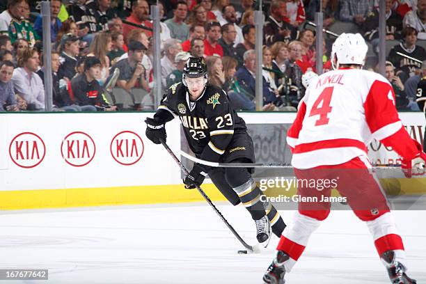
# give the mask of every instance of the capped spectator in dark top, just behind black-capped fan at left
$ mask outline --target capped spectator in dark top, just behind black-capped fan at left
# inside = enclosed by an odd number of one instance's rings
[[[76,73],[77,60],[79,56],[79,38],[70,33],[65,34],[61,40],[61,67],[58,70],[59,79],[71,81]]]

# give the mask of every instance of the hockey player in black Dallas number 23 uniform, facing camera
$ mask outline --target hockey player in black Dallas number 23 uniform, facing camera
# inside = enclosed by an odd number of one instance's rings
[[[183,70],[182,83],[174,84],[161,100],[154,118],[147,118],[146,136],[153,143],[166,140],[164,124],[178,116],[189,148],[196,157],[222,163],[254,163],[253,141],[246,123],[232,109],[224,90],[207,84],[203,58],[191,57]],[[200,186],[206,175],[232,205],[242,203],[255,221],[257,239],[269,240],[272,232],[281,237],[285,223],[270,203],[262,203],[262,191],[251,178],[249,168],[213,168],[194,164],[184,179],[187,188]]]

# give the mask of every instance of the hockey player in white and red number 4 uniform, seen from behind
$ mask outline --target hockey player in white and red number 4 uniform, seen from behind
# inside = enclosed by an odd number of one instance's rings
[[[402,157],[407,177],[424,173],[426,155],[402,126],[392,86],[380,74],[361,70],[367,49],[358,33],[342,33],[336,39],[331,52],[335,70],[310,81],[297,118],[287,132],[287,143],[298,179],[321,176],[323,170],[343,169],[339,182],[346,179],[344,187],[337,189],[341,196],[348,197],[347,203],[368,226],[390,282],[416,283],[406,274],[402,238],[386,198],[368,170],[371,164],[366,145],[377,139],[392,147]],[[361,172],[362,178],[350,175],[354,171]],[[303,194],[303,190],[298,187],[298,194]],[[285,283],[285,273],[291,271],[310,235],[329,215],[329,203],[321,208],[313,209],[299,202],[294,222],[283,231],[276,258],[263,276],[265,283]]]

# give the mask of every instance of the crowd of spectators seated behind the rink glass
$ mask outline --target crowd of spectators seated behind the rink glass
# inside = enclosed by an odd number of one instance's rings
[[[189,56],[204,57],[210,84],[226,90],[237,110],[255,110],[253,0],[158,1],[161,17],[161,88],[182,80]],[[4,1],[3,1],[4,2]],[[263,1],[264,111],[295,111],[316,71],[315,12],[324,29],[350,27],[369,45],[366,69],[377,71],[379,3],[374,0]],[[55,111],[152,110],[151,0],[51,0],[52,81]],[[3,5],[3,7],[1,7]],[[0,3],[0,111],[43,111],[45,85],[40,1]],[[397,109],[418,110],[426,75],[426,0],[386,0],[386,79]],[[333,36],[324,33],[322,63],[331,70]],[[405,54],[407,56],[401,56]],[[107,85],[119,71],[115,88]],[[426,79],[426,77],[425,77]]]

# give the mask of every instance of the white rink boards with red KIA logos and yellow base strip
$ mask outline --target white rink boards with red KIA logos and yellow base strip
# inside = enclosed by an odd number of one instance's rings
[[[258,162],[290,161],[285,132],[295,115],[241,113]],[[146,138],[147,116],[152,113],[0,114],[0,210],[201,200],[196,191],[184,189],[166,150]],[[423,113],[400,117],[423,143]],[[185,149],[179,123],[166,126],[176,155]],[[369,155],[383,164],[398,158],[377,141],[369,145]],[[223,200],[212,184],[203,188],[213,200]]]

